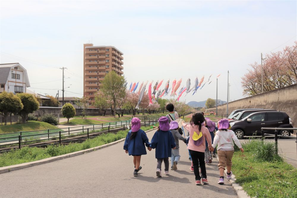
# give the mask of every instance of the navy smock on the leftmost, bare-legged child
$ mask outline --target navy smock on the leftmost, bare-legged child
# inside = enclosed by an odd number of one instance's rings
[[[135,138],[130,139],[132,133],[136,133]],[[146,155],[146,147],[149,147],[149,138],[146,133],[139,129],[138,132],[128,132],[126,140],[124,142],[124,150],[128,150],[129,155]]]

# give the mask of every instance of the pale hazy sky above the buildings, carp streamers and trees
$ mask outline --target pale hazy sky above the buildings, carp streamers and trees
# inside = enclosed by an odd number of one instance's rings
[[[242,96],[241,76],[260,53],[293,45],[296,1],[1,1],[1,63],[19,62],[32,91],[55,96],[83,93],[83,43],[113,45],[124,53],[128,85],[209,75],[212,83],[181,100]],[[7,54],[13,55],[12,56]],[[4,55],[4,56],[3,56]],[[10,56],[10,57],[7,57]],[[30,61],[15,59],[26,58]],[[32,61],[43,64],[33,64]],[[54,66],[48,67],[44,64]],[[154,84],[154,83],[153,83]],[[165,85],[165,84],[163,84]],[[162,87],[163,87],[162,85]],[[171,85],[170,85],[171,86]],[[40,88],[40,89],[35,89]],[[60,91],[61,96],[61,91]]]

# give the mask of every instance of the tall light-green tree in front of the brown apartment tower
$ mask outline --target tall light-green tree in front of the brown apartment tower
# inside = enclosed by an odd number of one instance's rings
[[[102,92],[113,101],[113,116],[116,117],[116,102],[125,96],[126,80],[124,76],[119,76],[116,72],[112,71],[105,75],[104,80],[102,80],[101,83]]]

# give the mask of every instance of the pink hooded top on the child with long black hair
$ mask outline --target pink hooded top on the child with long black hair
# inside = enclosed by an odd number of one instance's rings
[[[185,129],[187,129],[189,131],[189,135],[190,135],[190,139],[189,139],[189,144],[188,144],[188,148],[192,151],[199,151],[199,152],[205,152],[205,141],[203,141],[199,146],[196,146],[194,144],[194,140],[192,139],[194,131],[199,134],[199,126],[198,125],[189,125],[189,124],[182,124],[183,127]],[[208,143],[208,145],[211,145],[211,135],[208,131],[208,129],[205,126],[201,127],[201,132],[202,132],[202,137],[201,138],[206,138],[206,141]]]

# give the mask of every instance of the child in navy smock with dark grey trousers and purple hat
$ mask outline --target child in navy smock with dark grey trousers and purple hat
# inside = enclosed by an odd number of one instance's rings
[[[155,132],[153,138],[151,139],[151,148],[156,148],[156,158],[157,158],[157,177],[162,177],[161,175],[161,165],[164,161],[165,169],[164,174],[169,175],[169,160],[168,157],[171,157],[171,148],[175,149],[176,145],[174,138],[169,131],[169,122],[168,118],[162,116],[159,118],[159,128]]]

